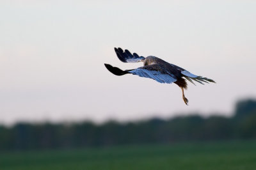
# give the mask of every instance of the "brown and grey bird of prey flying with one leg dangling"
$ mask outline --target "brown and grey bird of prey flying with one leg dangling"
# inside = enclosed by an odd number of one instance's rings
[[[136,53],[131,54],[129,50],[122,50],[121,48],[115,48],[115,52],[117,57],[124,63],[143,62],[144,66],[131,70],[121,70],[120,68],[105,64],[109,72],[115,75],[125,75],[127,73],[131,73],[140,77],[154,79],[155,81],[161,83],[170,84],[174,82],[181,88],[182,99],[186,105],[188,105],[188,99],[184,95],[184,89],[187,89],[188,87],[186,79],[193,84],[195,84],[193,81],[199,82],[200,84],[204,84],[203,82],[214,82],[212,79],[190,73],[184,68],[167,63],[163,59],[156,58],[155,56],[148,56],[147,58],[144,58]]]

